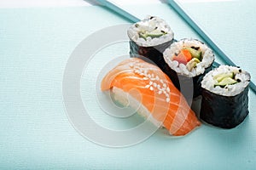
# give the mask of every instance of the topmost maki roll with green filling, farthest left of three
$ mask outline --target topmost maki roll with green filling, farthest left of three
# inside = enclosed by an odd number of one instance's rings
[[[130,38],[131,57],[142,58],[150,63],[158,65],[166,74],[169,67],[163,59],[163,52],[173,42],[173,31],[165,20],[156,16],[148,16],[146,19],[132,25],[127,31]]]

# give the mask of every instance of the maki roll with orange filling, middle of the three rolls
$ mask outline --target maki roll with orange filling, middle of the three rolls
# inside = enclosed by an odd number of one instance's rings
[[[185,86],[184,90],[193,90],[194,98],[199,96],[202,77],[212,70],[212,49],[198,40],[182,39],[166,48],[164,59],[171,68],[169,77],[176,88],[183,91],[181,87]],[[185,93],[183,95],[186,96]]]

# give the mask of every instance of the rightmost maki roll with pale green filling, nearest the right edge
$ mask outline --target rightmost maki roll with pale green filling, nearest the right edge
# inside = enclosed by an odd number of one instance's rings
[[[240,68],[220,65],[201,82],[201,120],[216,127],[232,128],[248,115],[250,74]]]

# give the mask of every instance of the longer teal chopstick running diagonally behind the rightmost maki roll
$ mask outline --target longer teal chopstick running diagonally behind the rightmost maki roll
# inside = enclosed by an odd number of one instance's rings
[[[185,13],[183,8],[181,8],[174,0],[168,0],[168,3],[170,6],[179,14],[183,20],[186,21],[186,23],[191,26],[191,28],[197,32],[197,34],[204,40],[204,42],[207,42],[208,46],[212,48],[212,50],[218,54],[218,56],[224,60],[224,63],[227,65],[233,65],[236,66],[236,64],[226,55],[224,52],[218,48],[218,46],[212,42],[211,38],[207,36],[207,34],[201,30],[199,26],[195,24],[195,21],[192,20],[188,14]],[[250,82],[249,87],[253,90],[254,94],[256,94],[256,86],[253,82]]]

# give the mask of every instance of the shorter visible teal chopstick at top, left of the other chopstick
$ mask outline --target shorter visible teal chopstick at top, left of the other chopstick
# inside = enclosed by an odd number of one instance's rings
[[[137,22],[139,19],[125,11],[123,8],[120,8],[118,5],[111,3],[110,1],[104,1],[104,0],[96,0],[97,3],[100,3],[101,5],[109,8],[113,12],[125,17],[125,19],[130,20],[131,22]]]

